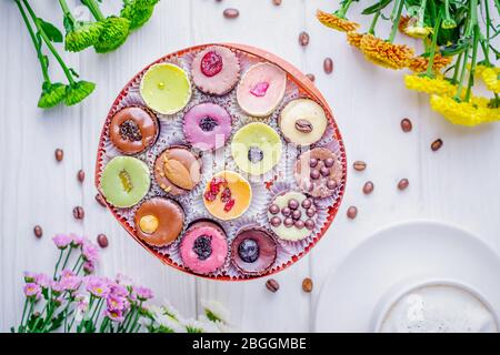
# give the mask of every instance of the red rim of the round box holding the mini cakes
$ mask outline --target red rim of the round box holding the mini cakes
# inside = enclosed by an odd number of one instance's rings
[[[96,187],[99,191],[99,193],[102,195],[102,192],[100,190],[100,178],[101,178],[104,164],[107,162],[107,159],[109,159],[109,156],[107,155],[107,134],[108,134],[109,123],[111,121],[112,115],[119,109],[120,103],[123,100],[123,98],[126,98],[128,95],[129,91],[133,90],[133,87],[137,85],[138,82],[140,82],[140,79],[143,77],[146,71],[151,65],[154,65],[154,64],[158,64],[158,63],[162,63],[162,62],[170,62],[173,59],[180,58],[182,55],[190,55],[191,53],[197,53],[197,52],[202,51],[203,49],[206,49],[208,47],[211,47],[211,45],[226,47],[226,48],[229,48],[231,51],[233,51],[236,53],[248,55],[250,58],[258,59],[259,61],[269,62],[269,63],[272,63],[272,64],[279,67],[280,69],[282,69],[286,72],[287,80],[289,82],[292,82],[294,85],[297,85],[300,98],[309,98],[309,99],[316,101],[317,103],[319,103],[322,106],[322,109],[324,110],[324,113],[326,113],[326,115],[327,115],[327,118],[329,120],[329,124],[332,128],[332,130],[330,132],[327,131],[326,134],[332,135],[330,138],[338,145],[338,150],[337,151],[338,151],[338,155],[339,155],[339,161],[340,161],[341,166],[342,166],[342,183],[340,184],[340,187],[339,187],[339,191],[338,191],[338,193],[336,195],[334,201],[326,207],[326,210],[327,210],[327,220],[322,224],[321,229],[314,235],[312,235],[312,237],[310,239],[310,242],[307,245],[301,247],[301,250],[299,252],[297,252],[293,255],[291,255],[289,257],[288,262],[281,263],[279,265],[274,265],[269,272],[267,272],[264,274],[256,275],[256,276],[246,276],[246,275],[231,276],[231,275],[224,274],[224,273],[222,273],[222,274],[219,273],[217,275],[199,275],[199,274],[194,274],[194,273],[190,272],[181,263],[176,262],[174,260],[172,260],[172,257],[170,257],[168,254],[160,252],[159,250],[148,245],[142,240],[140,240],[136,235],[134,227],[131,224],[130,220],[122,215],[122,213],[120,212],[120,209],[116,209],[114,206],[109,204],[106,201],[106,199],[102,199],[102,200],[106,202],[106,204],[108,206],[108,210],[113,214],[113,216],[118,220],[118,222],[126,229],[126,231],[140,245],[142,245],[142,247],[144,247],[148,252],[150,252],[152,255],[158,257],[166,265],[169,265],[171,267],[174,267],[177,270],[180,270],[182,272],[186,272],[186,273],[199,276],[199,277],[207,277],[207,278],[211,278],[211,280],[243,281],[243,280],[252,280],[252,278],[262,277],[262,276],[269,276],[269,275],[274,274],[277,272],[280,272],[283,268],[286,268],[286,267],[292,265],[293,263],[296,263],[299,258],[301,258],[303,255],[306,255],[319,242],[319,240],[326,234],[327,230],[329,229],[329,226],[333,222],[333,220],[336,217],[336,214],[337,214],[337,212],[339,210],[339,206],[340,206],[340,203],[342,201],[343,193],[344,193],[346,179],[347,179],[347,159],[346,159],[346,150],[344,150],[342,136],[340,134],[339,128],[338,128],[338,125],[337,125],[337,123],[336,123],[336,121],[333,119],[333,114],[332,114],[332,112],[331,112],[331,110],[330,110],[326,99],[319,92],[319,90],[314,87],[312,81],[310,81],[301,71],[299,71],[296,67],[293,67],[292,64],[290,64],[286,60],[283,60],[283,59],[281,59],[281,58],[279,58],[279,57],[277,57],[274,54],[271,54],[271,53],[269,53],[269,52],[267,52],[264,50],[261,50],[261,49],[258,49],[258,48],[253,48],[253,47],[249,47],[249,45],[246,45],[246,44],[208,43],[208,44],[190,47],[190,48],[187,48],[187,49],[183,49],[183,50],[180,50],[180,51],[167,54],[167,55],[158,59],[157,61],[152,62],[148,67],[143,68],[120,91],[119,95],[117,97],[117,99],[112,103],[111,109],[110,109],[110,111],[108,113],[108,116],[106,119],[103,129],[101,131],[100,140],[99,140],[99,148],[98,148],[98,152],[97,152],[94,184],[96,184]],[[233,90],[236,90],[236,89],[233,89]],[[276,180],[276,176],[274,176],[273,180]],[[267,185],[266,189],[269,190],[270,185]]]

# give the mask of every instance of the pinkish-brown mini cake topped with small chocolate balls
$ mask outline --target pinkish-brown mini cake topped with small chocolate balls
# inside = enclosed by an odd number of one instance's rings
[[[303,192],[313,197],[328,197],[342,180],[342,165],[329,149],[314,148],[299,156],[294,178]]]

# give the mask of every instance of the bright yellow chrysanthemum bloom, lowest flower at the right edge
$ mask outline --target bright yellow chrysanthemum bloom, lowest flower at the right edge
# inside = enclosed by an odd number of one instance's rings
[[[486,122],[499,121],[500,109],[489,109],[474,102],[458,102],[449,97],[432,95],[432,110],[441,113],[453,124],[478,125]]]

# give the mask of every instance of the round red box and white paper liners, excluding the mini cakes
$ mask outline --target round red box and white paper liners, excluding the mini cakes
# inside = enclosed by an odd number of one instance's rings
[[[190,67],[196,54],[209,45],[223,45],[231,49],[237,54],[240,61],[241,74],[243,74],[251,65],[262,61],[270,61],[273,64],[282,68],[287,72],[287,89],[284,97],[278,104],[277,109],[272,112],[272,114],[270,114],[267,118],[253,118],[243,112],[237,102],[236,87],[227,94],[220,97],[209,95],[198,90],[198,88],[192,83]],[[191,89],[192,89],[191,100],[186,108],[183,108],[180,112],[176,114],[166,115],[156,113],[160,123],[160,133],[157,142],[148,151],[133,156],[146,162],[150,171],[153,172],[154,161],[164,149],[172,145],[189,146],[182,130],[182,119],[187,111],[189,111],[192,106],[199,103],[211,102],[223,106],[232,118],[231,135],[228,138],[224,148],[221,148],[216,152],[200,152],[191,148],[193,153],[199,154],[202,161],[201,181],[192,191],[183,195],[172,196],[166,193],[157,184],[157,182],[154,181],[153,173],[151,173],[151,189],[148,192],[148,194],[136,206],[130,209],[117,209],[107,203],[108,207],[111,210],[117,220],[119,220],[119,222],[127,229],[129,234],[132,237],[134,237],[143,247],[146,247],[154,256],[159,257],[163,263],[188,273],[191,272],[183,266],[182,258],[180,257],[179,253],[179,245],[182,240],[182,235],[184,234],[186,230],[192,222],[203,219],[212,220],[219,223],[221,227],[224,230],[228,236],[229,253],[224,265],[220,270],[210,275],[199,275],[199,276],[217,280],[232,280],[232,281],[248,280],[263,276],[263,275],[259,276],[244,275],[232,265],[230,261],[230,248],[232,240],[234,239],[236,233],[239,230],[241,230],[244,226],[249,226],[251,224],[258,224],[270,231],[269,223],[267,221],[268,205],[270,201],[272,201],[273,196],[280,192],[288,190],[300,191],[293,178],[294,162],[297,158],[301,154],[301,152],[308,150],[309,148],[300,148],[294,144],[287,144],[284,142],[284,139],[280,134],[282,139],[282,156],[278,162],[278,164],[271,171],[267,172],[262,176],[251,176],[242,172],[237,166],[234,160],[231,156],[230,142],[232,135],[240,128],[250,122],[266,123],[271,128],[273,128],[278,133],[280,133],[278,119],[284,105],[291,100],[294,100],[297,98],[309,98],[323,106],[330,123],[322,139],[319,142],[312,144],[311,148],[324,146],[332,150],[341,161],[343,176],[333,196],[314,200],[314,204],[317,205],[318,210],[316,222],[317,225],[310,236],[297,242],[288,242],[279,237],[276,237],[278,248],[277,260],[274,261],[272,267],[264,275],[273,274],[293,264],[298,258],[303,256],[324,234],[326,230],[333,221],[333,217],[338,211],[344,191],[346,173],[347,173],[346,152],[343,149],[343,143],[341,141],[340,132],[331,116],[331,111],[328,108],[324,99],[319,93],[319,91],[313,87],[313,84],[309,80],[307,80],[301,72],[299,72],[289,63],[268,52],[241,44],[206,44],[196,48],[189,48],[187,50],[182,50],[177,53],[166,55],[152,64],[162,62],[169,62],[179,65],[187,72],[189,79],[191,80]],[[102,170],[106,166],[106,164],[112,158],[123,155],[122,153],[120,153],[120,151],[118,151],[113,146],[113,144],[109,140],[109,123],[111,121],[111,118],[116,112],[126,106],[130,105],[146,106],[144,101],[140,95],[139,88],[142,75],[146,73],[150,65],[144,68],[127,84],[127,87],[121,91],[121,93],[113,102],[109,111],[104,126],[101,132],[101,139],[98,150],[98,160],[96,165],[96,186],[98,187],[99,191],[100,191],[99,182],[102,174]],[[213,174],[222,170],[232,170],[239,172],[241,175],[247,178],[252,187],[252,201],[250,203],[249,209],[240,217],[232,221],[221,221],[210,215],[210,213],[204,207],[202,197],[206,184],[211,180]],[[153,196],[163,196],[177,201],[182,206],[186,215],[186,223],[181,235],[171,244],[163,247],[152,247],[150,245],[147,245],[139,237],[137,237],[134,233],[136,230],[133,216],[137,209],[139,209],[140,204],[143,203],[146,200],[149,200]],[[273,233],[271,232],[271,234]]]

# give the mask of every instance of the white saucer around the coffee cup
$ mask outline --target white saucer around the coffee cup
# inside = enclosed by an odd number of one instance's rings
[[[473,288],[500,318],[500,258],[473,234],[431,221],[391,225],[353,250],[324,282],[316,332],[372,332],[380,302],[414,281]]]

